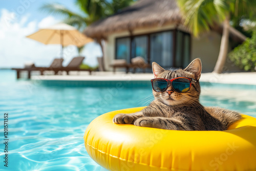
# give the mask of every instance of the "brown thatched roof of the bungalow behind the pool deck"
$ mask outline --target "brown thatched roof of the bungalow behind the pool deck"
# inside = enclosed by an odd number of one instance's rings
[[[93,23],[84,30],[92,38],[119,31],[182,23],[176,0],[139,0],[122,11]]]

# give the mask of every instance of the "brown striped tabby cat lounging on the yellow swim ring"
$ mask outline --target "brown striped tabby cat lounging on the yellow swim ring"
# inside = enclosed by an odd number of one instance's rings
[[[146,108],[133,114],[117,114],[113,118],[114,123],[164,130],[224,131],[241,119],[241,115],[237,112],[218,107],[204,107],[199,102],[201,92],[199,78],[202,71],[199,58],[194,59],[184,70],[164,70],[156,62],[152,63],[152,69],[155,78],[170,80],[187,77],[191,82],[189,91],[188,89],[184,89],[187,92],[175,91],[173,84],[168,82],[163,92],[153,90],[155,100]]]

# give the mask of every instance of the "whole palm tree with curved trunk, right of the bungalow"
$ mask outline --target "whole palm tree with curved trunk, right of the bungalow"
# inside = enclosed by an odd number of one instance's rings
[[[194,36],[207,32],[216,24],[223,24],[223,33],[219,56],[214,68],[221,73],[225,65],[230,18],[252,15],[256,10],[255,0],[178,0],[178,6],[184,14],[185,24]]]

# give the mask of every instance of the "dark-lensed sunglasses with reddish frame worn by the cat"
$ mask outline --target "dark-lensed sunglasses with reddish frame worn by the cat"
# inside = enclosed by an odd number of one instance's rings
[[[190,90],[191,81],[197,82],[193,78],[177,77],[174,79],[155,78],[151,80],[151,83],[153,90],[158,93],[164,92],[169,83],[176,92],[184,93]]]

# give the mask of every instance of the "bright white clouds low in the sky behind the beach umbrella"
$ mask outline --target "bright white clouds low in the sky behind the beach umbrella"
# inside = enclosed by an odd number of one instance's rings
[[[6,9],[0,11],[0,68],[23,68],[24,63],[32,61],[38,67],[49,66],[52,60],[60,56],[60,45],[44,45],[35,40],[26,38],[38,28],[51,26],[60,21],[53,16],[47,16],[40,22],[29,20],[31,14],[21,15],[13,20],[13,12]],[[68,46],[63,51],[67,65],[74,56],[78,56],[75,46]],[[91,66],[97,65],[96,57],[101,56],[101,50],[94,42],[87,45],[81,53],[86,56],[84,62]]]

